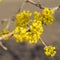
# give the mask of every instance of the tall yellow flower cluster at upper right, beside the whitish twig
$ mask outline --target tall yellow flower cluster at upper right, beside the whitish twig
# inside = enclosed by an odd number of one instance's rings
[[[53,19],[54,19],[54,11],[50,10],[48,8],[45,8],[42,10],[42,15],[43,15],[43,23],[45,25],[49,25],[53,23]]]

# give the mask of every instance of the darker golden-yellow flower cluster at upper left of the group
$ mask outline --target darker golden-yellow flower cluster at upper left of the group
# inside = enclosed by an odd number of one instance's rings
[[[31,20],[29,19],[32,16],[30,11],[23,11],[16,15],[16,26],[26,27]]]

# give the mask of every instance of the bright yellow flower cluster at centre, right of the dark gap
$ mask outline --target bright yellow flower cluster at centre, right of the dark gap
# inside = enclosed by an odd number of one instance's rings
[[[37,34],[39,37],[43,32],[42,22],[33,20],[32,25],[30,26],[30,31]]]

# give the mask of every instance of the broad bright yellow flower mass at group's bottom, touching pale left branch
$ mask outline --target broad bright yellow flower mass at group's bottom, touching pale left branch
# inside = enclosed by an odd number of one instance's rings
[[[13,32],[13,36],[16,38],[16,42],[28,41],[29,44],[36,44],[43,32],[43,29],[40,30],[39,33],[38,31],[27,31],[27,29],[23,27],[16,27]]]

